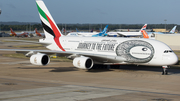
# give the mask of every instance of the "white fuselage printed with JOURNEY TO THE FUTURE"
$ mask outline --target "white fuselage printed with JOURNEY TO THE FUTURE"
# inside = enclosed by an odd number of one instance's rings
[[[85,56],[91,58],[93,58],[93,55],[106,57],[106,59],[103,58],[102,60],[95,59],[95,63],[166,66],[175,64],[178,61],[176,54],[166,44],[157,40],[67,36],[60,37],[59,40],[67,52],[89,54]],[[48,49],[62,51],[53,40],[51,42],[53,43],[47,46]]]

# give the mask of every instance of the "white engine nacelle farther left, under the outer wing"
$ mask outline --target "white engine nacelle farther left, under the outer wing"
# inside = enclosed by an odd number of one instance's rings
[[[47,65],[50,62],[49,56],[46,54],[37,53],[30,57],[30,62],[34,65]]]

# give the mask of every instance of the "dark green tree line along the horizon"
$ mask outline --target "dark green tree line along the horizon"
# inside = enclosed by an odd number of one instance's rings
[[[78,30],[103,30],[106,25],[108,26],[109,31],[115,29],[141,29],[144,24],[58,24],[59,29],[66,28],[66,30],[75,31],[76,28]],[[172,29],[176,24],[148,24],[147,29]],[[180,25],[176,25],[176,30],[180,30]],[[24,24],[24,25],[0,25],[1,31],[9,31],[12,28],[14,31],[26,31],[26,30],[34,30],[37,28],[38,30],[42,30],[42,25],[39,24]]]

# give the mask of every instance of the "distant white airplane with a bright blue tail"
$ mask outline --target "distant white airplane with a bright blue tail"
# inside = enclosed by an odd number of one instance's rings
[[[107,31],[108,25],[104,28],[102,32],[71,32],[67,36],[86,36],[86,37],[104,37],[107,36],[106,31]]]

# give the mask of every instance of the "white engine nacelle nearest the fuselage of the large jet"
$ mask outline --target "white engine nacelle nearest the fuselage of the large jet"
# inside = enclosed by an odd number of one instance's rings
[[[93,67],[93,60],[89,57],[77,57],[74,58],[73,65],[80,69],[91,69]]]

